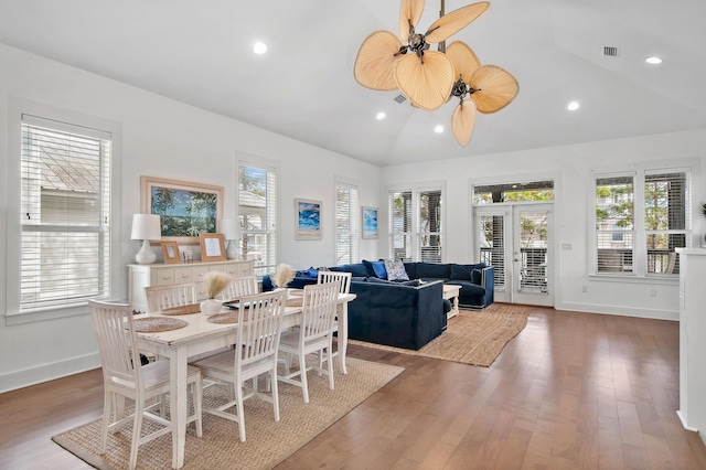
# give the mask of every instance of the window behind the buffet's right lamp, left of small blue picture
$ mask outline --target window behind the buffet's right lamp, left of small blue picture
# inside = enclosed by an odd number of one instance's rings
[[[240,253],[261,277],[277,268],[277,172],[240,164],[238,180]]]

